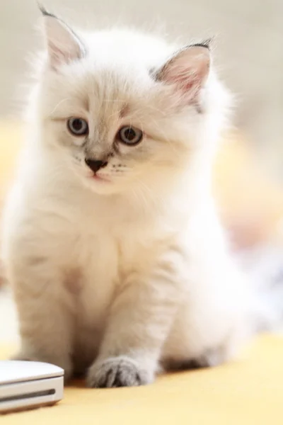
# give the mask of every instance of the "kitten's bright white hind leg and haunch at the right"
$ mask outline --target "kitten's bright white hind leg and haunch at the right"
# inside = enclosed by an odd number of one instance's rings
[[[204,261],[163,346],[167,370],[207,368],[233,358],[252,334],[248,282],[224,255]],[[219,263],[218,263],[219,261]]]

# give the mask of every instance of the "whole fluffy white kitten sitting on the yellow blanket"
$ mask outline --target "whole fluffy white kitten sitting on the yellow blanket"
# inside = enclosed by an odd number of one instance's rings
[[[44,21],[33,132],[4,222],[18,357],[66,378],[88,370],[91,387],[226,361],[260,305],[211,196],[229,96],[209,46]]]

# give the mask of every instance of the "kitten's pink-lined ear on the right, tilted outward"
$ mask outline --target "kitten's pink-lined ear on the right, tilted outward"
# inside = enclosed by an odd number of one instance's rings
[[[210,67],[209,42],[190,45],[175,53],[157,72],[156,79],[174,84],[182,97],[190,103],[196,101],[207,81]]]

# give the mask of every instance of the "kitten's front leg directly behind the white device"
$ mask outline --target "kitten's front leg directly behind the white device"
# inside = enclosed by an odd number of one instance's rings
[[[62,285],[62,272],[44,256],[25,256],[9,265],[18,318],[19,360],[53,363],[72,373],[71,305]]]

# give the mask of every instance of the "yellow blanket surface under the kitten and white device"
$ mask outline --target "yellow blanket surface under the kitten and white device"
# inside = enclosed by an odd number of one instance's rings
[[[0,347],[0,358],[11,352]],[[262,336],[237,361],[164,375],[153,385],[93,390],[76,382],[62,402],[0,417],[3,425],[282,425],[283,339]]]

